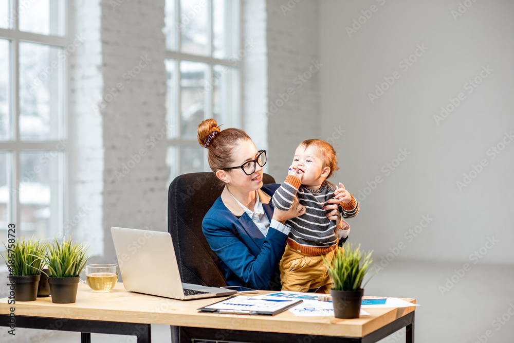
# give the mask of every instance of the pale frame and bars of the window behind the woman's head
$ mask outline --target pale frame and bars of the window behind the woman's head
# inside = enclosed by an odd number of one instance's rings
[[[166,61],[172,60],[174,65],[174,79],[173,79],[173,89],[174,89],[174,96],[175,96],[175,103],[173,112],[177,116],[177,118],[173,118],[171,122],[168,121],[169,124],[176,124],[177,128],[176,131],[176,138],[168,138],[167,137],[167,148],[170,147],[176,148],[176,154],[175,154],[175,161],[178,164],[177,168],[177,175],[182,174],[182,166],[181,166],[181,148],[183,147],[199,147],[198,141],[193,138],[182,138],[181,136],[181,128],[182,128],[182,116],[180,112],[180,106],[181,106],[181,86],[180,86],[180,80],[181,80],[181,73],[180,73],[180,62],[181,61],[191,61],[191,62],[200,62],[207,64],[207,72],[205,75],[205,80],[212,80],[213,77],[213,67],[214,65],[221,65],[221,66],[227,66],[230,68],[234,68],[237,71],[237,85],[235,87],[237,91],[237,95],[234,97],[236,99],[237,103],[234,105],[235,111],[230,117],[230,124],[233,127],[240,128],[243,124],[243,92],[242,92],[242,85],[243,85],[243,60],[244,57],[241,57],[237,59],[236,61],[230,61],[229,56],[227,59],[218,59],[212,57],[213,51],[214,51],[214,45],[213,45],[213,0],[206,0],[206,10],[208,11],[207,14],[207,52],[206,55],[192,55],[190,53],[181,52],[181,30],[180,24],[180,0],[170,0],[174,2],[174,40],[176,42],[175,47],[176,50],[168,50],[168,47],[165,47],[165,59]],[[235,37],[233,37],[234,42],[237,43],[237,46],[235,47],[235,51],[239,52],[241,50],[241,47],[243,44],[243,34],[241,33],[241,28],[243,27],[243,12],[242,12],[242,2],[241,0],[237,0],[233,2],[233,6],[235,6],[233,13],[235,13],[238,17],[236,19],[237,27],[234,28],[234,34]],[[165,12],[166,13],[166,12]],[[166,14],[165,14],[166,15]],[[209,92],[206,92],[208,96],[206,97],[205,101],[205,111],[204,111],[204,119],[213,118],[213,97],[214,92],[211,90]],[[167,113],[167,120],[168,113]],[[199,124],[199,123],[198,123]],[[223,123],[218,123],[223,124]],[[167,149],[167,151],[168,151]],[[167,152],[168,154],[168,152]],[[204,171],[210,171],[209,163],[207,160],[207,149],[203,152],[203,166]],[[169,180],[168,186],[172,180]]]

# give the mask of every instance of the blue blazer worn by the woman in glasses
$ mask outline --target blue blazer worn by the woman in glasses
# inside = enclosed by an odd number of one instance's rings
[[[264,185],[258,190],[270,222],[274,209],[271,196],[279,187],[278,184]],[[225,270],[227,285],[257,290],[281,289],[279,262],[287,235],[270,226],[264,237],[227,187],[205,215],[201,229]]]

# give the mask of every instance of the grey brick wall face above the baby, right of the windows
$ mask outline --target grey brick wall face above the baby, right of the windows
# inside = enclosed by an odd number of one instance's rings
[[[319,73],[309,71],[319,59],[318,2],[268,0],[266,6],[268,173],[280,183],[298,143],[320,138]],[[305,82],[299,78],[304,73]]]

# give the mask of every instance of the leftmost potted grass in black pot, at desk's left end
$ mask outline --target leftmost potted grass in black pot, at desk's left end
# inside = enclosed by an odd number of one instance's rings
[[[38,296],[38,284],[41,278],[45,244],[41,240],[25,237],[9,240],[5,245],[5,256],[2,255],[9,268],[9,281],[14,291],[15,301],[33,301]]]

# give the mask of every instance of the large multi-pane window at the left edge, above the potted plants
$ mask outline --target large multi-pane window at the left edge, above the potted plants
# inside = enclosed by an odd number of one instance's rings
[[[0,241],[61,234],[65,215],[66,57],[63,0],[0,2]]]

